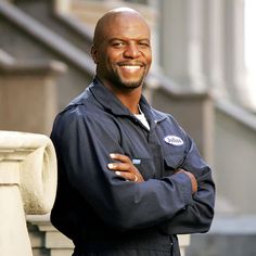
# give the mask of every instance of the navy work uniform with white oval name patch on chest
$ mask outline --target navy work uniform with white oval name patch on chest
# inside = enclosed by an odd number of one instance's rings
[[[209,166],[171,115],[154,110],[143,95],[140,107],[150,130],[95,78],[55,118],[51,139],[59,183],[51,221],[74,241],[74,255],[108,255],[114,248],[179,255],[176,234],[210,227],[215,185]],[[145,182],[111,171],[111,153],[128,155]],[[188,176],[172,175],[177,168],[196,177],[193,196]]]

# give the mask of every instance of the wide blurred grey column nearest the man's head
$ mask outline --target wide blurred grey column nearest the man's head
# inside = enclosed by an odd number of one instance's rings
[[[202,0],[164,0],[161,5],[161,64],[178,85],[205,89]]]

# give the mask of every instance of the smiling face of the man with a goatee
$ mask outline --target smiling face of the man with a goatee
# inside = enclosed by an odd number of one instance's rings
[[[140,87],[152,62],[150,30],[144,21],[115,15],[104,24],[100,38],[92,50],[98,76],[111,87]]]

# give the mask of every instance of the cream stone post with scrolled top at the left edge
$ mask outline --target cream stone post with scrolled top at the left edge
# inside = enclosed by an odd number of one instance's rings
[[[31,256],[25,214],[51,210],[56,158],[43,135],[0,131],[0,255]]]

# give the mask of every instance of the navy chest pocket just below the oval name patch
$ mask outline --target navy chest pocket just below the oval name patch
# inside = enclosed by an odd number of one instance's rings
[[[164,157],[165,162],[165,175],[171,175],[183,163],[183,152],[175,152],[171,155]]]

